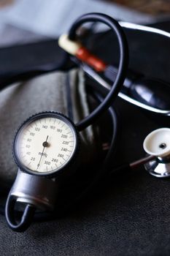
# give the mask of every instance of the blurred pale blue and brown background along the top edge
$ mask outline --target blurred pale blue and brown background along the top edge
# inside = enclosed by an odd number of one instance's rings
[[[0,47],[56,38],[85,12],[104,12],[117,20],[151,24],[169,20],[170,1],[0,0]]]

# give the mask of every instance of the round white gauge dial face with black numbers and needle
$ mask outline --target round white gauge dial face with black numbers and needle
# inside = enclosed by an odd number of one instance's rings
[[[21,169],[48,175],[66,167],[76,148],[77,132],[68,118],[58,113],[40,113],[18,130],[14,156]]]

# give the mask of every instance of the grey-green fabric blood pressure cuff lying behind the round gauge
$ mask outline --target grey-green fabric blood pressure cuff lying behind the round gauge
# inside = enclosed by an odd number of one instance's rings
[[[0,94],[0,180],[12,184],[18,171],[12,158],[12,142],[20,124],[29,116],[44,111],[55,111],[72,117],[74,123],[88,115],[83,72],[51,72],[25,82],[15,83]],[[92,127],[82,132],[85,157],[82,164],[93,158],[94,134]]]

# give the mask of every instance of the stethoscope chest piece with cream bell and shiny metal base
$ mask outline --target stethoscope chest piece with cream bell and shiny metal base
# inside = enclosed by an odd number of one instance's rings
[[[161,128],[151,132],[143,146],[147,154],[155,157],[144,164],[145,169],[158,178],[170,177],[170,129]]]

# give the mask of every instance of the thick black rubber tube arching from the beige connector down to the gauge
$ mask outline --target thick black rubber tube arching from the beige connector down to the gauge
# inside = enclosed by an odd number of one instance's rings
[[[104,111],[107,110],[110,105],[112,105],[121,87],[123,86],[123,81],[125,80],[125,75],[128,68],[128,43],[125,38],[125,34],[119,23],[117,23],[116,20],[109,17],[108,15],[96,12],[82,15],[74,22],[70,28],[69,39],[76,39],[76,31],[82,25],[82,23],[95,21],[106,24],[116,34],[120,48],[120,62],[117,70],[117,77],[112,85],[112,89],[109,91],[109,94],[107,94],[107,97],[105,97],[104,101],[101,102],[101,104],[98,105],[98,107],[93,110],[89,116],[85,117],[82,119],[82,121],[77,123],[77,129],[80,131],[88,127],[90,124],[93,124],[93,122],[96,121],[96,119],[101,116],[101,114],[104,113]]]

